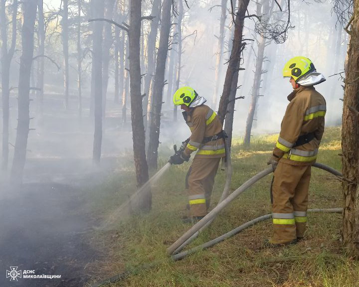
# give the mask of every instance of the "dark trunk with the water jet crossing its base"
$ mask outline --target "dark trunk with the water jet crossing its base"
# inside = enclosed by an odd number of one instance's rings
[[[131,0],[129,30],[131,122],[136,179],[138,187],[144,185],[149,179],[148,165],[145,152],[145,128],[143,124],[141,95],[141,1],[142,0]],[[140,199],[139,206],[137,208],[140,210],[148,211],[151,209],[151,204],[151,190],[148,189]]]

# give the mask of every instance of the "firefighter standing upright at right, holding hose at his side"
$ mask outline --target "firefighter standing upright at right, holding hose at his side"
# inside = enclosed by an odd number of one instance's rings
[[[317,158],[326,114],[326,101],[313,87],[326,79],[310,59],[292,58],[283,77],[290,77],[294,90],[288,96],[278,142],[267,162],[274,170],[273,236],[265,242],[270,247],[294,244],[304,236],[311,165]]]

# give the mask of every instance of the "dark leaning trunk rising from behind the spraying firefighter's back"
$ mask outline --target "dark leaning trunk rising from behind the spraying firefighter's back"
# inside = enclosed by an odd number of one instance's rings
[[[242,33],[243,33],[243,23],[244,15],[248,7],[249,0],[240,0],[238,4],[238,10],[234,22],[234,38],[232,51],[228,61],[227,72],[223,85],[223,92],[219,102],[218,108],[218,117],[221,123],[223,124],[224,118],[227,112],[228,101],[231,93],[232,85],[237,86],[238,83],[238,71],[240,66],[240,57],[241,51],[243,49],[242,43]],[[237,72],[237,73],[236,73]],[[234,82],[232,84],[232,82]]]

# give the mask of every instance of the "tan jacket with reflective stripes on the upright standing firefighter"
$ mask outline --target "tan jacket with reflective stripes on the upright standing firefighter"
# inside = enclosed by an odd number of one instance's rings
[[[313,86],[300,86],[288,96],[288,100],[290,103],[282,120],[273,156],[292,165],[313,164],[324,132],[326,101]],[[298,138],[308,133],[314,133],[314,139],[295,146]]]

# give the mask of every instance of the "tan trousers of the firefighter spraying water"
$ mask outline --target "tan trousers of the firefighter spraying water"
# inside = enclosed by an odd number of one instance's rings
[[[221,158],[194,157],[186,176],[190,216],[205,216]]]

